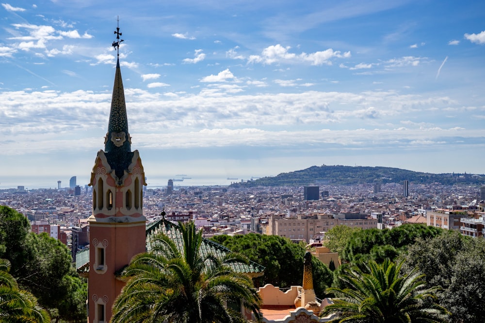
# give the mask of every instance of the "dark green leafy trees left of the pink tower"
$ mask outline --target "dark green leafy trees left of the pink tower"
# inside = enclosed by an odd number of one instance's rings
[[[84,322],[87,286],[72,267],[69,248],[47,233],[29,231],[25,216],[0,206],[0,257],[12,263],[18,285],[35,295],[53,318]]]

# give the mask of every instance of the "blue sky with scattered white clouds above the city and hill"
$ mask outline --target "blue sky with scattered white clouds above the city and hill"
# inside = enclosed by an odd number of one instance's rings
[[[484,1],[16,0],[0,12],[0,183],[87,183],[117,17],[149,183],[323,164],[485,173]]]

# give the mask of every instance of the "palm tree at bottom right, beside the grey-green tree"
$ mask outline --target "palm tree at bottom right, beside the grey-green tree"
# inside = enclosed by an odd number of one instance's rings
[[[339,298],[320,316],[337,313],[339,317],[329,322],[339,323],[445,322],[448,312],[436,303],[437,288],[426,288],[424,275],[416,270],[400,275],[401,265],[370,261],[367,272],[357,268],[343,275],[340,279],[349,287],[328,288]]]

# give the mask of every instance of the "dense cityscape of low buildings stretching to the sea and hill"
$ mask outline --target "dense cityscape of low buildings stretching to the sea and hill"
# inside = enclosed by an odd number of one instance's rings
[[[57,189],[24,190],[22,186],[0,191],[0,205],[16,209],[32,223],[35,232],[51,232],[76,252],[88,244],[87,219],[92,214],[92,188],[79,185]],[[72,180],[71,180],[72,182]],[[72,184],[72,183],[71,183]],[[204,235],[246,234],[257,232],[280,235],[291,240],[314,243],[324,239],[333,226],[345,224],[363,229],[392,228],[403,223],[426,223],[432,212],[456,213],[462,219],[454,227],[428,221],[428,225],[460,230],[463,234],[481,236],[484,226],[483,209],[485,191],[477,185],[414,185],[389,183],[362,185],[321,185],[300,187],[244,187],[231,186],[175,186],[172,180],[165,188],[144,189],[143,212],[148,222],[161,217],[174,223],[193,220]],[[308,188],[316,189],[314,196],[306,196]],[[316,194],[316,196],[315,196]],[[278,219],[306,218],[310,215],[332,215],[332,221],[309,231],[275,231]],[[356,219],[369,219],[362,224]],[[456,220],[455,220],[456,221]],[[470,227],[470,223],[472,226]],[[298,223],[298,226],[300,224]],[[51,228],[55,228],[51,229]],[[73,234],[84,228],[84,240],[72,245]],[[479,228],[479,230],[477,230]],[[303,229],[303,228],[302,228]],[[61,238],[62,236],[62,238]]]

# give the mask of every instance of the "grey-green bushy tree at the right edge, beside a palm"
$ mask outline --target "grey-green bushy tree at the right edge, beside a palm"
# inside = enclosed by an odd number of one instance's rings
[[[419,239],[404,257],[404,271],[417,267],[428,284],[441,288],[439,302],[452,313],[450,322],[484,321],[484,238],[471,239],[447,231],[432,239]]]

